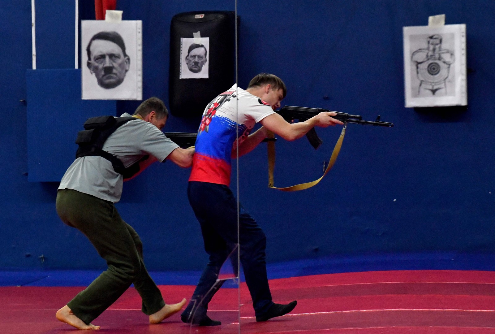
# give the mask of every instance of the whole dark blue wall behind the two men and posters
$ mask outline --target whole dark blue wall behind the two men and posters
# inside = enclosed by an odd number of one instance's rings
[[[26,69],[31,68],[31,7],[22,1],[0,2],[4,18],[0,22],[4,108],[0,268],[101,268],[103,261],[85,237],[56,216],[58,184],[27,180],[27,106],[20,100],[26,99]],[[92,1],[80,2],[90,6]],[[60,10],[56,2],[37,3]],[[123,19],[143,20],[143,96],[158,96],[168,104],[172,16],[192,10],[234,10],[234,2],[140,1],[137,5],[119,0],[117,9],[124,11]],[[88,11],[84,13],[89,19]],[[399,259],[408,253],[413,254],[408,259],[418,261],[425,259],[424,254],[445,260],[438,254],[447,254],[455,262],[474,254],[484,259],[483,269],[493,268],[493,1],[239,0],[238,13],[241,87],[267,71],[287,84],[285,105],[344,111],[367,119],[381,114],[382,120],[396,124],[391,129],[349,125],[334,169],[320,184],[301,192],[266,187],[264,145],[240,159],[240,199],[268,236],[267,261],[359,258],[362,266],[354,270],[372,270],[380,268],[370,267],[363,258]],[[469,106],[405,109],[402,27],[426,25],[429,15],[441,13],[446,14],[447,24],[467,25]],[[67,29],[73,32],[73,21],[68,21]],[[39,22],[38,29],[42,25]],[[37,35],[39,68],[55,68],[58,63],[68,64],[59,68],[70,68],[73,44],[64,49],[66,55],[53,52],[47,31],[45,39],[42,32]],[[60,34],[60,39],[71,34]],[[137,105],[118,102],[117,112],[132,112]],[[70,115],[53,122],[62,127],[72,124]],[[190,132],[197,126],[198,120],[171,117],[166,131]],[[318,133],[325,141],[318,151],[305,139],[278,141],[276,185],[321,175],[322,162],[330,157],[340,128],[318,129]],[[117,204],[121,216],[140,233],[151,270],[196,270],[204,264],[198,223],[186,199],[188,172],[170,163],[156,164],[125,184]],[[397,260],[394,268],[404,264]]]

